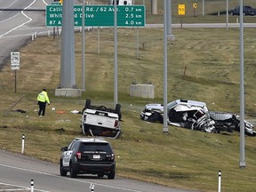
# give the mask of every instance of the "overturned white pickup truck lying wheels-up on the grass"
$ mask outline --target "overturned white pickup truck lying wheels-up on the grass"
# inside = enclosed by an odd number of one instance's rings
[[[121,105],[116,108],[92,106],[91,100],[85,101],[82,112],[81,128],[84,135],[118,138],[122,134],[120,127]]]

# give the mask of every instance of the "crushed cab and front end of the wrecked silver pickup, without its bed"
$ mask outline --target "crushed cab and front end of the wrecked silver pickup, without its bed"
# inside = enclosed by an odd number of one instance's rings
[[[167,104],[168,124],[192,130],[214,132],[215,122],[210,118],[204,102],[196,100],[173,100]],[[140,119],[148,122],[164,122],[164,106],[147,104]]]

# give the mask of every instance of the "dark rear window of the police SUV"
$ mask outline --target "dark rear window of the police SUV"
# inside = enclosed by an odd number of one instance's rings
[[[81,145],[81,150],[86,152],[94,152],[94,151],[104,151],[107,153],[112,153],[112,149],[110,148],[108,143],[90,143],[84,142]]]

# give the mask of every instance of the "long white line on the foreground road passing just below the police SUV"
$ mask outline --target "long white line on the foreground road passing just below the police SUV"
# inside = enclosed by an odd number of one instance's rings
[[[47,172],[38,172],[38,171],[35,171],[35,170],[29,170],[29,169],[15,167],[15,166],[7,165],[7,164],[0,164],[0,166],[9,167],[9,168],[12,168],[12,169],[17,169],[17,170],[22,170],[22,171],[25,171],[25,172],[36,172],[36,173],[39,173],[39,174],[44,174],[44,175],[48,175],[48,176],[52,176],[52,177],[56,177],[56,178],[65,179],[65,180],[73,180],[73,181],[76,180],[76,179],[72,179],[72,178],[61,177],[61,176],[58,176],[58,175],[50,174],[50,173],[47,173]],[[85,180],[76,180],[76,181],[77,182],[88,183],[88,184],[92,183],[91,181],[85,181]],[[133,189],[130,189],[130,188],[119,188],[119,187],[109,186],[109,185],[100,184],[100,183],[94,183],[94,185],[99,185],[101,187],[106,187],[106,188],[116,188],[116,189],[120,189],[120,190],[124,190],[124,191],[143,192],[143,191],[140,191],[140,190],[133,190]]]

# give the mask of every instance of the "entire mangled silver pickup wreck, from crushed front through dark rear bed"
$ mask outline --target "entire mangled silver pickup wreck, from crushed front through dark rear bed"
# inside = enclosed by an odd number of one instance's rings
[[[196,100],[174,100],[167,104],[168,124],[204,132],[238,131],[240,117],[235,114],[209,111],[206,103]],[[164,121],[164,106],[147,104],[140,119],[148,122]],[[255,136],[253,125],[244,121],[244,133]]]

